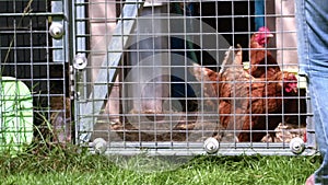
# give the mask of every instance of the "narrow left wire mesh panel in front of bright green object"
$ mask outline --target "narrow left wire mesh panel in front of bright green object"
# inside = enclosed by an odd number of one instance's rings
[[[1,150],[70,140],[67,13],[63,1],[0,1]]]

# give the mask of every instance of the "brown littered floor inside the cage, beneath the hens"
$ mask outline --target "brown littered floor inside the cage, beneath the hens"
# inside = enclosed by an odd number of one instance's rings
[[[215,137],[221,142],[237,142],[236,137],[234,137],[237,132],[236,130],[220,129],[215,120],[200,119],[196,115],[197,113],[191,116],[180,113],[171,115],[171,120],[167,120],[167,118],[164,118],[165,115],[161,114],[148,116],[141,116],[140,114],[129,115],[117,122],[98,119],[94,126],[92,140],[103,138],[107,141],[199,142],[204,141],[209,137]],[[274,130],[270,130],[271,135],[267,130],[254,131],[268,132],[261,139],[261,142],[290,142],[295,137],[304,138],[306,127],[280,123]]]

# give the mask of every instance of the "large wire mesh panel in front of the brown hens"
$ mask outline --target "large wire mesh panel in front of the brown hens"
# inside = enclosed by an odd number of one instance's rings
[[[132,154],[309,154],[293,1],[75,0],[77,142]]]

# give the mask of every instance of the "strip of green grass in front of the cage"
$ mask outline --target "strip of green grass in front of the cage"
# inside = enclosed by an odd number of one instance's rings
[[[1,184],[268,184],[300,185],[320,164],[318,157],[197,157],[173,171],[142,173],[107,157],[75,149],[0,157]]]

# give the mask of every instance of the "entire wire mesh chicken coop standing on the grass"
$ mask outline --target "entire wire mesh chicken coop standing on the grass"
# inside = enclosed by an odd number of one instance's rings
[[[16,122],[2,105],[2,146],[9,128],[94,153],[316,152],[294,1],[0,3],[1,89],[30,103]]]

